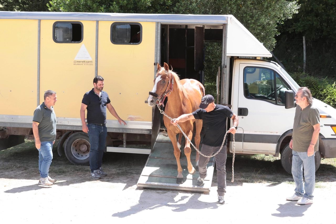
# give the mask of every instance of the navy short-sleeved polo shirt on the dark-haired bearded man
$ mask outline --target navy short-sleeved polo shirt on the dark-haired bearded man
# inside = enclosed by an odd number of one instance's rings
[[[84,94],[82,103],[87,106],[86,119],[88,123],[104,124],[106,123],[106,105],[111,103],[107,92],[100,91],[100,97],[93,91]]]

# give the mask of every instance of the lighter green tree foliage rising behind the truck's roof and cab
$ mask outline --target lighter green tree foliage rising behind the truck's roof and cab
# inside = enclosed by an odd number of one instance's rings
[[[287,0],[51,0],[51,11],[167,14],[232,14],[271,50],[277,24],[297,13]]]

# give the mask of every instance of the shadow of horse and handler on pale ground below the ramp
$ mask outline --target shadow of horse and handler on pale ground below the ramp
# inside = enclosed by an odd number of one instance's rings
[[[164,190],[156,190],[154,192],[153,190],[144,189],[136,205],[128,210],[114,213],[112,217],[124,218],[145,210],[154,210],[161,207],[170,208],[173,212],[184,212],[188,209],[217,209],[220,206],[217,201],[204,202],[199,200],[202,195],[199,193],[179,195],[180,193],[186,194],[187,192],[169,191],[167,193]],[[157,195],[157,197],[154,195]]]

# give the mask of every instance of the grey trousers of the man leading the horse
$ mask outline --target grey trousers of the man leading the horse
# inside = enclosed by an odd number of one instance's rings
[[[202,145],[201,152],[204,155],[211,156],[213,153],[217,152],[220,149],[220,146],[208,146]],[[200,177],[204,179],[207,176],[207,165],[209,163],[210,158],[204,157],[200,155],[200,161],[198,163],[198,173]],[[224,196],[226,193],[226,171],[225,171],[225,163],[226,163],[226,145],[220,150],[220,152],[215,155],[216,168],[217,168],[217,193],[218,196]]]

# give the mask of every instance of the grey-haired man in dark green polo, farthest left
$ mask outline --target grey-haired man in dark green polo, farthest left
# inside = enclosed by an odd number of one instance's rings
[[[56,138],[56,115],[53,106],[57,101],[56,92],[47,90],[44,102],[34,111],[33,133],[35,146],[39,150],[39,185],[51,186],[56,180],[49,177],[49,167],[52,160],[52,145]]]

